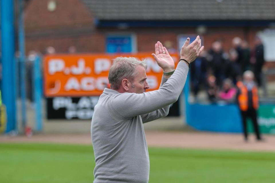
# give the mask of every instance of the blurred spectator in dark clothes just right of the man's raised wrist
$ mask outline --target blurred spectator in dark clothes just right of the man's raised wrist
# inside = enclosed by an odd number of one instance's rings
[[[199,88],[206,81],[206,51],[203,51],[200,56],[190,64],[190,76],[191,76],[191,86],[195,97],[199,92]]]

